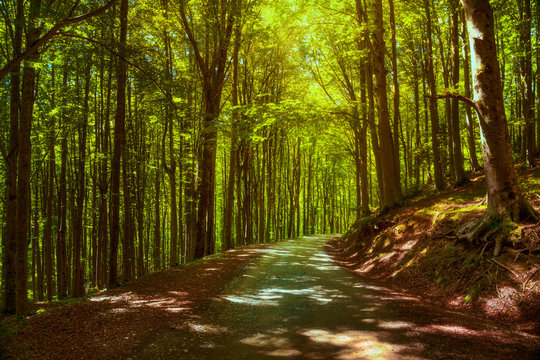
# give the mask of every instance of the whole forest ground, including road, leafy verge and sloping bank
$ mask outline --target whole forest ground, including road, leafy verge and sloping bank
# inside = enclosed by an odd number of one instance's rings
[[[540,170],[522,170],[540,208]],[[452,237],[481,175],[343,239],[235,249],[0,318],[0,359],[538,359],[540,228],[489,253]],[[337,266],[337,264],[341,266]]]

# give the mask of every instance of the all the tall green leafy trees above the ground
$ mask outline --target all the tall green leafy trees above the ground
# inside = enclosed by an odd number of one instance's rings
[[[478,174],[481,216],[456,236],[497,256],[538,222],[538,187],[515,170],[540,152],[538,2],[1,0],[0,13],[4,312],[345,233]]]

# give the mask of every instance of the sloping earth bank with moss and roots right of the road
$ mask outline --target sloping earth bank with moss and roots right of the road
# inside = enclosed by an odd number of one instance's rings
[[[524,195],[536,210],[538,165],[517,168]],[[357,222],[330,242],[330,252],[342,266],[384,286],[540,335],[540,224],[519,224],[515,232],[521,241],[506,244],[496,259],[493,248],[456,236],[485,212],[485,193],[482,173],[460,188],[423,192],[386,215]]]

